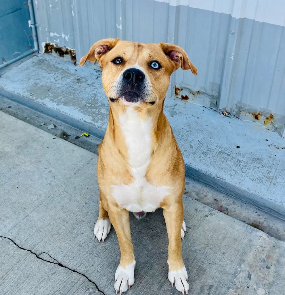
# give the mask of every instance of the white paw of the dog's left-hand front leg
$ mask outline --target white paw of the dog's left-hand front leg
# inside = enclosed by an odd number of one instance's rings
[[[122,292],[127,291],[130,287],[135,283],[135,260],[133,263],[127,265],[125,268],[118,266],[116,273],[115,273],[115,285],[114,288],[116,290],[116,294],[120,291]]]

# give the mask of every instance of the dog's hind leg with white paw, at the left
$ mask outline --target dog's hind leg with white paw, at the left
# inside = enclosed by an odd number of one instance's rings
[[[98,239],[98,242],[106,239],[108,233],[111,229],[111,222],[109,219],[108,212],[103,208],[102,202],[101,202],[101,192],[100,192],[100,199],[99,199],[99,216],[97,219],[97,222],[94,227],[94,237]]]

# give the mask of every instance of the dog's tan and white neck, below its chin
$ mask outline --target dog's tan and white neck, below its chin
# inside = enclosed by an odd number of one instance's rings
[[[110,107],[108,128],[112,130],[115,148],[131,167],[147,165],[157,148],[165,119],[163,106]]]

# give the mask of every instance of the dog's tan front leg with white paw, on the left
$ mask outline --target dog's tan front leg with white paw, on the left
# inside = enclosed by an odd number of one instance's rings
[[[120,264],[115,273],[114,287],[116,294],[118,291],[122,294],[122,292],[130,289],[130,286],[135,282],[135,256],[131,240],[129,212],[114,204],[109,205],[107,211],[115,228],[121,251]]]

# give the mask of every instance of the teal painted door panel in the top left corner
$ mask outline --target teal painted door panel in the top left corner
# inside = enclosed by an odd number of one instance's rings
[[[0,67],[27,52],[33,52],[34,40],[29,27],[29,6],[23,0],[1,0]]]

